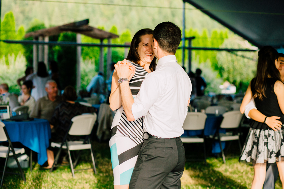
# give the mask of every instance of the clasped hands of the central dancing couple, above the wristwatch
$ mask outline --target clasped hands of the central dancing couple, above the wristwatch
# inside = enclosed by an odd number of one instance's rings
[[[118,78],[128,78],[128,81],[130,81],[130,79],[135,74],[135,66],[127,62],[126,59],[124,59],[123,61],[118,61],[114,65],[114,68],[116,70]]]

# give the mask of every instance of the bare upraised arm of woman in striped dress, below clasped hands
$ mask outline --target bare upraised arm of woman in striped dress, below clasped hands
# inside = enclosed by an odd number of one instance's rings
[[[110,109],[112,110],[116,110],[122,105],[120,87],[118,83],[118,76],[116,74],[116,70],[114,70],[111,79],[111,92],[110,92],[109,101],[110,101]]]

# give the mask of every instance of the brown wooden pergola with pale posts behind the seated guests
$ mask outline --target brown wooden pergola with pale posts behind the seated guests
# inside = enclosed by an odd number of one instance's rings
[[[76,33],[77,43],[81,43],[81,34],[89,36],[94,39],[99,39],[103,44],[104,39],[108,39],[108,44],[111,44],[111,39],[118,38],[119,36],[102,29],[92,27],[89,24],[89,19],[72,22],[60,26],[50,27],[47,29],[40,29],[37,31],[29,32],[25,35],[25,38],[33,37],[34,41],[49,41],[49,36],[59,35],[62,32],[71,31]],[[81,87],[81,46],[77,46],[77,90]],[[99,70],[104,72],[104,47],[100,46],[100,68]],[[48,66],[48,44],[33,44],[33,67],[37,70],[37,63],[43,61]],[[107,77],[110,75],[110,63],[111,63],[111,47],[108,47],[107,54]]]

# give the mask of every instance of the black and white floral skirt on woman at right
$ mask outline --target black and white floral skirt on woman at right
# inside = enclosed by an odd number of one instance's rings
[[[284,160],[284,131],[250,128],[239,161],[275,163]]]

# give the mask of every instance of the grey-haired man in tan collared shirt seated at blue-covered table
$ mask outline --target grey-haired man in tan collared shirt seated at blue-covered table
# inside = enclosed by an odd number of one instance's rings
[[[47,95],[36,101],[30,117],[51,120],[57,105],[61,103],[62,97],[58,96],[57,84],[54,80],[49,80],[45,84]]]

